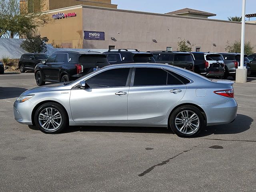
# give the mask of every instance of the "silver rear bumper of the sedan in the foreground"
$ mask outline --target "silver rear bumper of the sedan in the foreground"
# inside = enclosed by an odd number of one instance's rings
[[[228,98],[224,104],[200,105],[206,113],[207,126],[228,124],[237,116],[237,103],[234,98]]]

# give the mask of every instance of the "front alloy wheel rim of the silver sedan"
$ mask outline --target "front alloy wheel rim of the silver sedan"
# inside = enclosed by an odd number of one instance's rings
[[[40,126],[47,131],[54,131],[60,127],[62,122],[61,114],[55,108],[43,109],[38,117]]]

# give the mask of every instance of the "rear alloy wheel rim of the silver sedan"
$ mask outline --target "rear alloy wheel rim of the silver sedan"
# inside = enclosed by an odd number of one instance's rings
[[[180,112],[175,118],[175,126],[183,134],[192,134],[199,128],[200,121],[197,114],[190,110]]]

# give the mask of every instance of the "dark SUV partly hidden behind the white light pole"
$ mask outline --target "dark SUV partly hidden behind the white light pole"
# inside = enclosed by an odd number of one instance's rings
[[[225,75],[224,79],[228,78],[229,76],[236,79],[236,69],[240,63],[241,54],[240,53],[220,53],[223,56],[224,63],[225,63]],[[251,74],[250,68],[250,60],[248,59],[247,55],[244,55],[244,66],[247,68],[247,76]]]

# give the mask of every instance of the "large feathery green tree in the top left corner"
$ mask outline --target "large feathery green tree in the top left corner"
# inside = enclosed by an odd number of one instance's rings
[[[28,32],[36,32],[39,26],[48,22],[48,16],[29,12],[29,6],[22,3],[20,9],[19,0],[0,0],[0,38],[24,36]]]

